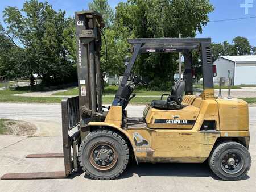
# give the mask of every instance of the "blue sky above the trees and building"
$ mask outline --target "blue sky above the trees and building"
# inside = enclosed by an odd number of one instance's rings
[[[40,1],[43,2],[43,0]],[[121,1],[125,0],[109,0],[109,4],[114,9]],[[1,19],[5,7],[16,6],[20,9],[24,2],[24,0],[0,0],[0,22],[3,24]],[[53,9],[65,10],[67,16],[73,16],[75,11],[88,9],[88,3],[91,1],[48,0],[48,2],[53,6]],[[252,6],[248,9],[247,14],[245,8],[240,7],[245,2],[250,2]],[[209,14],[209,19],[212,21],[256,16],[256,0],[210,0],[210,3],[214,6],[214,11]],[[197,34],[197,37],[211,37],[214,43],[221,43],[225,40],[232,43],[232,39],[236,36],[246,37],[251,45],[256,46],[256,18],[211,22],[203,28],[202,34]]]

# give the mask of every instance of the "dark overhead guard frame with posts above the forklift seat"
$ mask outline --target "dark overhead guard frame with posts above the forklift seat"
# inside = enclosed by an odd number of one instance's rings
[[[137,56],[142,53],[158,53],[163,52],[163,48],[174,48],[166,53],[170,52],[183,52],[185,57],[185,93],[186,95],[193,94],[192,86],[192,49],[201,47],[201,62],[202,62],[202,71],[203,71],[203,87],[204,91],[207,90],[207,95],[203,97],[204,99],[214,98],[214,86],[213,86],[213,73],[212,73],[212,52],[210,49],[211,39],[210,38],[138,38],[138,39],[128,39],[128,43],[133,45],[133,55],[126,66],[125,73],[121,84],[119,85],[117,94],[112,102],[112,106],[118,106],[121,101],[121,95],[123,88],[127,84],[128,78],[131,75],[131,70],[133,69],[135,60]],[[159,47],[144,47],[149,44],[152,45],[161,45]],[[175,45],[175,46],[174,46]],[[143,48],[144,47],[144,48]],[[153,52],[145,52],[145,49],[155,49]]]

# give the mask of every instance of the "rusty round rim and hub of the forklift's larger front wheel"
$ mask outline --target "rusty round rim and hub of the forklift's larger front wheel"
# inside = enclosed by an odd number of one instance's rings
[[[112,144],[100,142],[90,152],[90,163],[98,170],[109,170],[117,162],[117,152]]]

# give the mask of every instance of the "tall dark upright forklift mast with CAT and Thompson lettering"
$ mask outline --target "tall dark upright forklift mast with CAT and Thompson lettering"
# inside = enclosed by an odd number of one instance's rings
[[[101,14],[94,11],[75,12],[77,74],[81,127],[92,112],[102,111],[102,77],[100,71],[101,28],[105,27]]]

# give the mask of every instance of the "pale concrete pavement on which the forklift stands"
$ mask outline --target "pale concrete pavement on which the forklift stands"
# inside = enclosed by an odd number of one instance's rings
[[[22,119],[39,126],[38,137],[0,135],[0,176],[7,172],[64,169],[60,159],[29,159],[28,153],[61,152],[60,105],[0,103],[0,118]],[[129,106],[129,116],[141,116],[144,106]],[[242,181],[221,181],[207,164],[140,164],[117,180],[77,177],[58,180],[0,180],[0,191],[255,191],[256,107],[250,107],[252,166]]]

